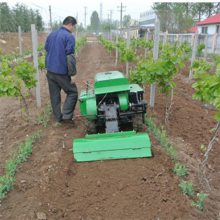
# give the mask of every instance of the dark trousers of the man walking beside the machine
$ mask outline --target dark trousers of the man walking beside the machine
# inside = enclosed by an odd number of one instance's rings
[[[62,119],[72,119],[75,109],[78,92],[75,83],[71,83],[68,75],[60,75],[47,71],[47,81],[49,85],[50,101],[53,114],[58,122]],[[61,89],[66,93],[66,100],[61,112]]]

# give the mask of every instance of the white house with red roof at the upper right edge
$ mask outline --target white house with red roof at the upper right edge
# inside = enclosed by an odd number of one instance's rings
[[[220,34],[220,13],[198,22],[196,26],[199,34]]]

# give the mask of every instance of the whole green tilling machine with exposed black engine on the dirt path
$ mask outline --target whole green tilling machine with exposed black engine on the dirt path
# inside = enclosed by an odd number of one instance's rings
[[[79,97],[81,115],[87,119],[85,138],[73,140],[76,161],[151,157],[144,126],[147,104],[143,89],[129,84],[121,72],[98,73],[94,88]]]

